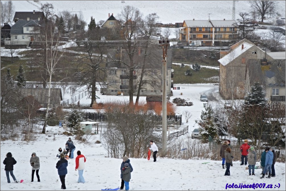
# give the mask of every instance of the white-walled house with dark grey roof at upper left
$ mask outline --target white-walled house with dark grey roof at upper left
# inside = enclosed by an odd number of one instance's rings
[[[37,33],[35,33],[34,28],[40,26],[40,20],[18,20],[11,27],[11,42],[6,44],[27,44],[30,46],[33,41],[37,39]]]

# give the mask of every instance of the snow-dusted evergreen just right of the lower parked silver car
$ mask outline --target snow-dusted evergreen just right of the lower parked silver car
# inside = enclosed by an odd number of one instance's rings
[[[213,114],[214,111],[209,106],[205,108],[205,111],[202,111],[202,114],[200,115],[201,120],[195,120],[195,122],[200,126],[199,131],[204,143],[208,142],[209,137],[212,139],[218,139],[218,127],[215,123]]]

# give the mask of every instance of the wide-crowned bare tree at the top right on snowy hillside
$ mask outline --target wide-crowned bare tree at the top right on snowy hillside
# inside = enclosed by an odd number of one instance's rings
[[[264,21],[266,14],[273,14],[276,9],[276,1],[249,1],[251,8],[261,16],[261,22]]]

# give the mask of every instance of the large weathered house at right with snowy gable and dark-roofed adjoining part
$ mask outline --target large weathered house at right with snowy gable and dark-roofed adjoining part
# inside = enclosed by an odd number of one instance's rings
[[[219,92],[224,99],[244,99],[255,81],[266,87],[268,98],[272,96],[272,89],[283,84],[281,81],[284,81],[285,89],[285,70],[284,77],[283,72],[280,72],[285,68],[285,52],[265,52],[249,40],[243,39],[231,46],[230,51],[221,51],[220,58]],[[274,70],[278,66],[280,69]]]

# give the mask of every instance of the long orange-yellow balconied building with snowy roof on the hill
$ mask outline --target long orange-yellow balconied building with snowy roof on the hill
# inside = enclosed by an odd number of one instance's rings
[[[234,20],[184,20],[180,41],[192,46],[224,46],[237,40]]]

